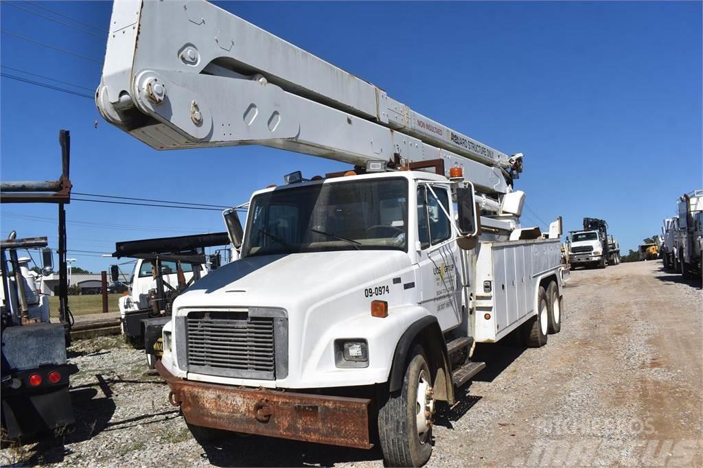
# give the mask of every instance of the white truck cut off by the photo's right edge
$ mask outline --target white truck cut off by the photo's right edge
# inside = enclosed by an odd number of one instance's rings
[[[678,271],[684,277],[702,272],[703,190],[683,194],[678,200],[675,252]]]

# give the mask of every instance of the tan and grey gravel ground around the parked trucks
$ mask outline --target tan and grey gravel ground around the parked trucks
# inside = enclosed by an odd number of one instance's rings
[[[487,367],[444,408],[430,466],[701,466],[703,296],[659,261],[574,271],[560,334],[477,348]],[[117,337],[76,342],[77,425],[2,464],[380,467],[379,450],[251,436],[200,445]]]

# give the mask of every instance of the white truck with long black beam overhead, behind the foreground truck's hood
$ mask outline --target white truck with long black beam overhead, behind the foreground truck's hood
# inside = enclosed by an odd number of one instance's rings
[[[120,297],[120,320],[125,341],[144,347],[149,368],[162,355],[161,330],[171,320],[174,299],[212,269],[220,256],[206,255],[206,247],[228,245],[226,232],[181,235],[117,242],[117,259],[136,259],[127,294]],[[120,280],[117,265],[110,266],[112,282]]]

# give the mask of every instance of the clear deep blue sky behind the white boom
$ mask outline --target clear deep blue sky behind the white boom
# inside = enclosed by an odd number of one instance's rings
[[[0,29],[96,61],[1,34],[2,72],[92,94],[105,39],[25,10],[101,32],[32,3],[3,1]],[[566,230],[599,217],[634,249],[659,232],[679,195],[703,186],[700,2],[218,4],[428,117],[523,152],[516,188],[540,219],[564,216]],[[109,2],[35,5],[108,28]],[[345,167],[256,146],[157,152],[104,122],[88,98],[7,78],[0,98],[3,180],[56,178],[59,129],[71,131],[71,179],[84,193],[229,205],[291,171]],[[1,210],[3,237],[15,229],[56,245],[56,207]],[[110,264],[94,252],[112,252],[115,241],[223,230],[217,212],[79,201],[67,219],[69,256],[93,271]]]

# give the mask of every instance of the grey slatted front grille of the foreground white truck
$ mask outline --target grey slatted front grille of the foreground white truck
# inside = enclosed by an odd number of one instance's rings
[[[274,379],[273,320],[249,317],[247,312],[188,313],[188,371],[244,379]]]

